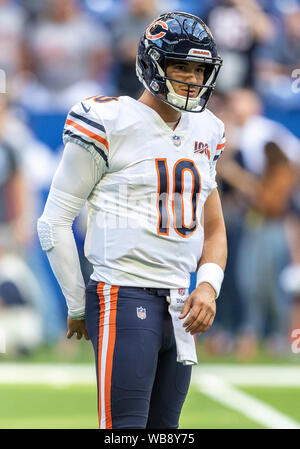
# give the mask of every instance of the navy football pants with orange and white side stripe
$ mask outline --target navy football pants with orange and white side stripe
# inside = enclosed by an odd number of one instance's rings
[[[167,294],[93,280],[87,286],[101,429],[178,427],[191,366],[176,361]]]

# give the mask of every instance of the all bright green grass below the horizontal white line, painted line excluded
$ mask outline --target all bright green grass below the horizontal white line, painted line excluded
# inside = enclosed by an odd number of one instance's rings
[[[300,425],[300,388],[243,387]],[[97,429],[96,388],[91,385],[0,385],[2,429]],[[191,386],[183,407],[183,429],[260,429],[265,426],[212,400]]]

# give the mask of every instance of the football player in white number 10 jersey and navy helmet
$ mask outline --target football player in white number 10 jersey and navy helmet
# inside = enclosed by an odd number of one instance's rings
[[[142,96],[85,99],[66,119],[38,233],[67,301],[67,337],[93,343],[100,428],[177,428],[195,363],[180,342],[213,323],[227,257],[215,181],[225,137],[206,104],[221,65],[201,19],[163,14],[139,43]],[[87,288],[72,234],[84,205]]]

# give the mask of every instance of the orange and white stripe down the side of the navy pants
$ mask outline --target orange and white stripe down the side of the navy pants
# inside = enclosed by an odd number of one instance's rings
[[[98,412],[99,428],[112,428],[111,415],[111,378],[113,355],[116,341],[116,317],[118,302],[118,286],[105,288],[104,282],[97,285],[99,298],[99,330],[98,330]]]

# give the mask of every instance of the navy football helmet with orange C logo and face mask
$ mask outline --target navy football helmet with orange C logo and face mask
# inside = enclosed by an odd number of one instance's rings
[[[168,61],[178,59],[203,64],[203,84],[168,78]],[[136,73],[146,89],[176,110],[202,112],[215,88],[222,62],[209,28],[199,17],[171,12],[160,15],[141,37]],[[176,94],[171,81],[187,85],[187,95]],[[196,98],[190,98],[192,86],[200,88]]]

